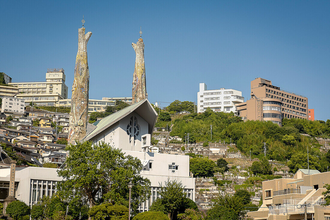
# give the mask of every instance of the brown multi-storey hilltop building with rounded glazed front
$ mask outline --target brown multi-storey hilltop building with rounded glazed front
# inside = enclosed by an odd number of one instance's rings
[[[251,81],[251,99],[235,106],[244,120],[272,121],[281,126],[282,118],[307,119],[308,99],[256,78]]]

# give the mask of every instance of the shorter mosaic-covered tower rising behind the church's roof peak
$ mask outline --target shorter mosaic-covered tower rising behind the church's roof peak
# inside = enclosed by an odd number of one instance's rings
[[[146,88],[146,69],[144,63],[144,43],[141,35],[142,31],[140,30],[140,38],[138,42],[136,42],[136,44],[132,43],[132,47],[136,54],[133,74],[132,104],[148,98]]]

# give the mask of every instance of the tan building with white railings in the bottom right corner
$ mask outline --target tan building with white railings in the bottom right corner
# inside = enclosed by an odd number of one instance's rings
[[[325,184],[329,183],[330,172],[312,169],[299,169],[293,178],[263,181],[262,205],[258,211],[248,212],[248,216],[255,220],[300,220],[307,209],[307,219],[328,220],[329,206],[322,204]]]

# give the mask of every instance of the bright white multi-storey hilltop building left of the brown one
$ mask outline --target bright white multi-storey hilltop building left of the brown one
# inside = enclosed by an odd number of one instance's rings
[[[207,90],[205,83],[199,84],[197,92],[197,112],[204,112],[210,107],[215,112],[236,112],[236,103],[244,102],[242,92],[233,89],[221,88],[218,90]]]

